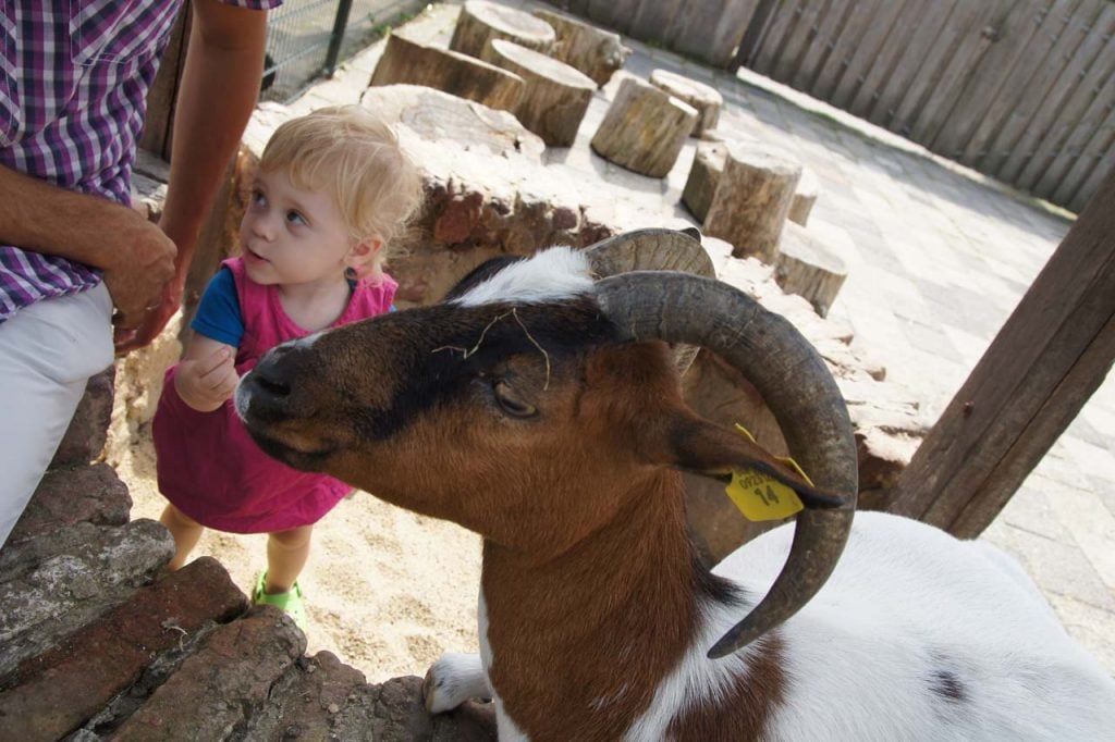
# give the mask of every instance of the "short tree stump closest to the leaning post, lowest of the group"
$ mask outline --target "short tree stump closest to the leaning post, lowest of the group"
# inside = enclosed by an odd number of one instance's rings
[[[787,294],[802,296],[817,314],[827,316],[847,277],[844,261],[795,223],[786,225],[778,247],[774,280]]]

